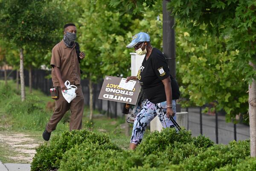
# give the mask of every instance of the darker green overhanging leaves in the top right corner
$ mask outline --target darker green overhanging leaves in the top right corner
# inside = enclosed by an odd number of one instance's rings
[[[254,0],[172,0],[169,10],[186,26],[195,38],[202,34],[214,35],[225,40],[227,50],[239,50],[237,62],[251,81],[255,71],[248,65],[255,61],[256,2]]]

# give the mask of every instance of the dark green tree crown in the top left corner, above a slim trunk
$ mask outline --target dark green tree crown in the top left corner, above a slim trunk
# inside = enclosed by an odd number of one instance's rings
[[[63,11],[52,0],[8,0],[0,2],[0,35],[18,47],[51,47],[62,26]]]

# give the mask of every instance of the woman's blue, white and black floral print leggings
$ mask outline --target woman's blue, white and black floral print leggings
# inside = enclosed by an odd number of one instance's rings
[[[166,116],[167,102],[151,103],[146,101],[145,105],[137,114],[131,134],[131,143],[140,144],[147,125],[158,115],[163,128],[174,127],[172,121]],[[176,101],[172,100],[172,110],[176,113]],[[176,116],[173,117],[176,120]]]

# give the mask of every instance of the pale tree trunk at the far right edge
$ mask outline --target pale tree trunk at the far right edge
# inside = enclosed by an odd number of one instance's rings
[[[256,66],[249,62],[254,70]],[[250,123],[250,156],[256,157],[256,81],[253,79],[252,84],[249,84],[249,123]]]

